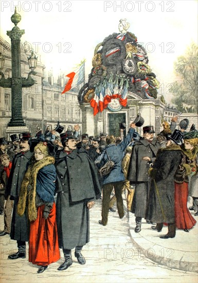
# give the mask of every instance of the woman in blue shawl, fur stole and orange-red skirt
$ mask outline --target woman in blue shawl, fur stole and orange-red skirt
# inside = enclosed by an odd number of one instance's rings
[[[36,145],[35,145],[36,144]],[[23,215],[28,200],[30,220],[29,262],[40,266],[38,273],[60,259],[58,246],[56,205],[54,201],[55,158],[49,155],[55,147],[50,141],[32,141],[34,155],[26,171],[17,213]]]

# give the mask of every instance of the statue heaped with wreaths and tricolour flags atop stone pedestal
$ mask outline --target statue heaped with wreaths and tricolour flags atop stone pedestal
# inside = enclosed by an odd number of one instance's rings
[[[95,48],[88,82],[78,95],[79,103],[91,103],[94,114],[106,108],[114,98],[126,106],[128,91],[143,99],[157,97],[159,82],[148,65],[145,48],[138,44],[135,34],[128,31],[129,27],[130,23],[121,19],[119,33],[110,34]]]

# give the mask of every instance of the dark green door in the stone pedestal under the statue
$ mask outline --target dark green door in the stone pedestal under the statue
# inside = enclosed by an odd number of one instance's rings
[[[114,136],[120,136],[119,122],[126,122],[125,113],[109,113],[108,114],[108,127],[109,134]],[[125,136],[125,130],[124,130]]]

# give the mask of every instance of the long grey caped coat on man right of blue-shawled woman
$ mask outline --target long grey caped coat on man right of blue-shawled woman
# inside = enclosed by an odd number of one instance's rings
[[[100,194],[96,168],[83,148],[56,155],[59,246],[71,250],[89,241],[87,202]]]

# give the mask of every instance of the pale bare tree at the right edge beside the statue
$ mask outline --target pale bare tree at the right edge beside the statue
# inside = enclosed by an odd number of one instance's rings
[[[198,114],[198,46],[195,43],[177,58],[174,70],[178,79],[171,87],[172,103],[179,111]]]

